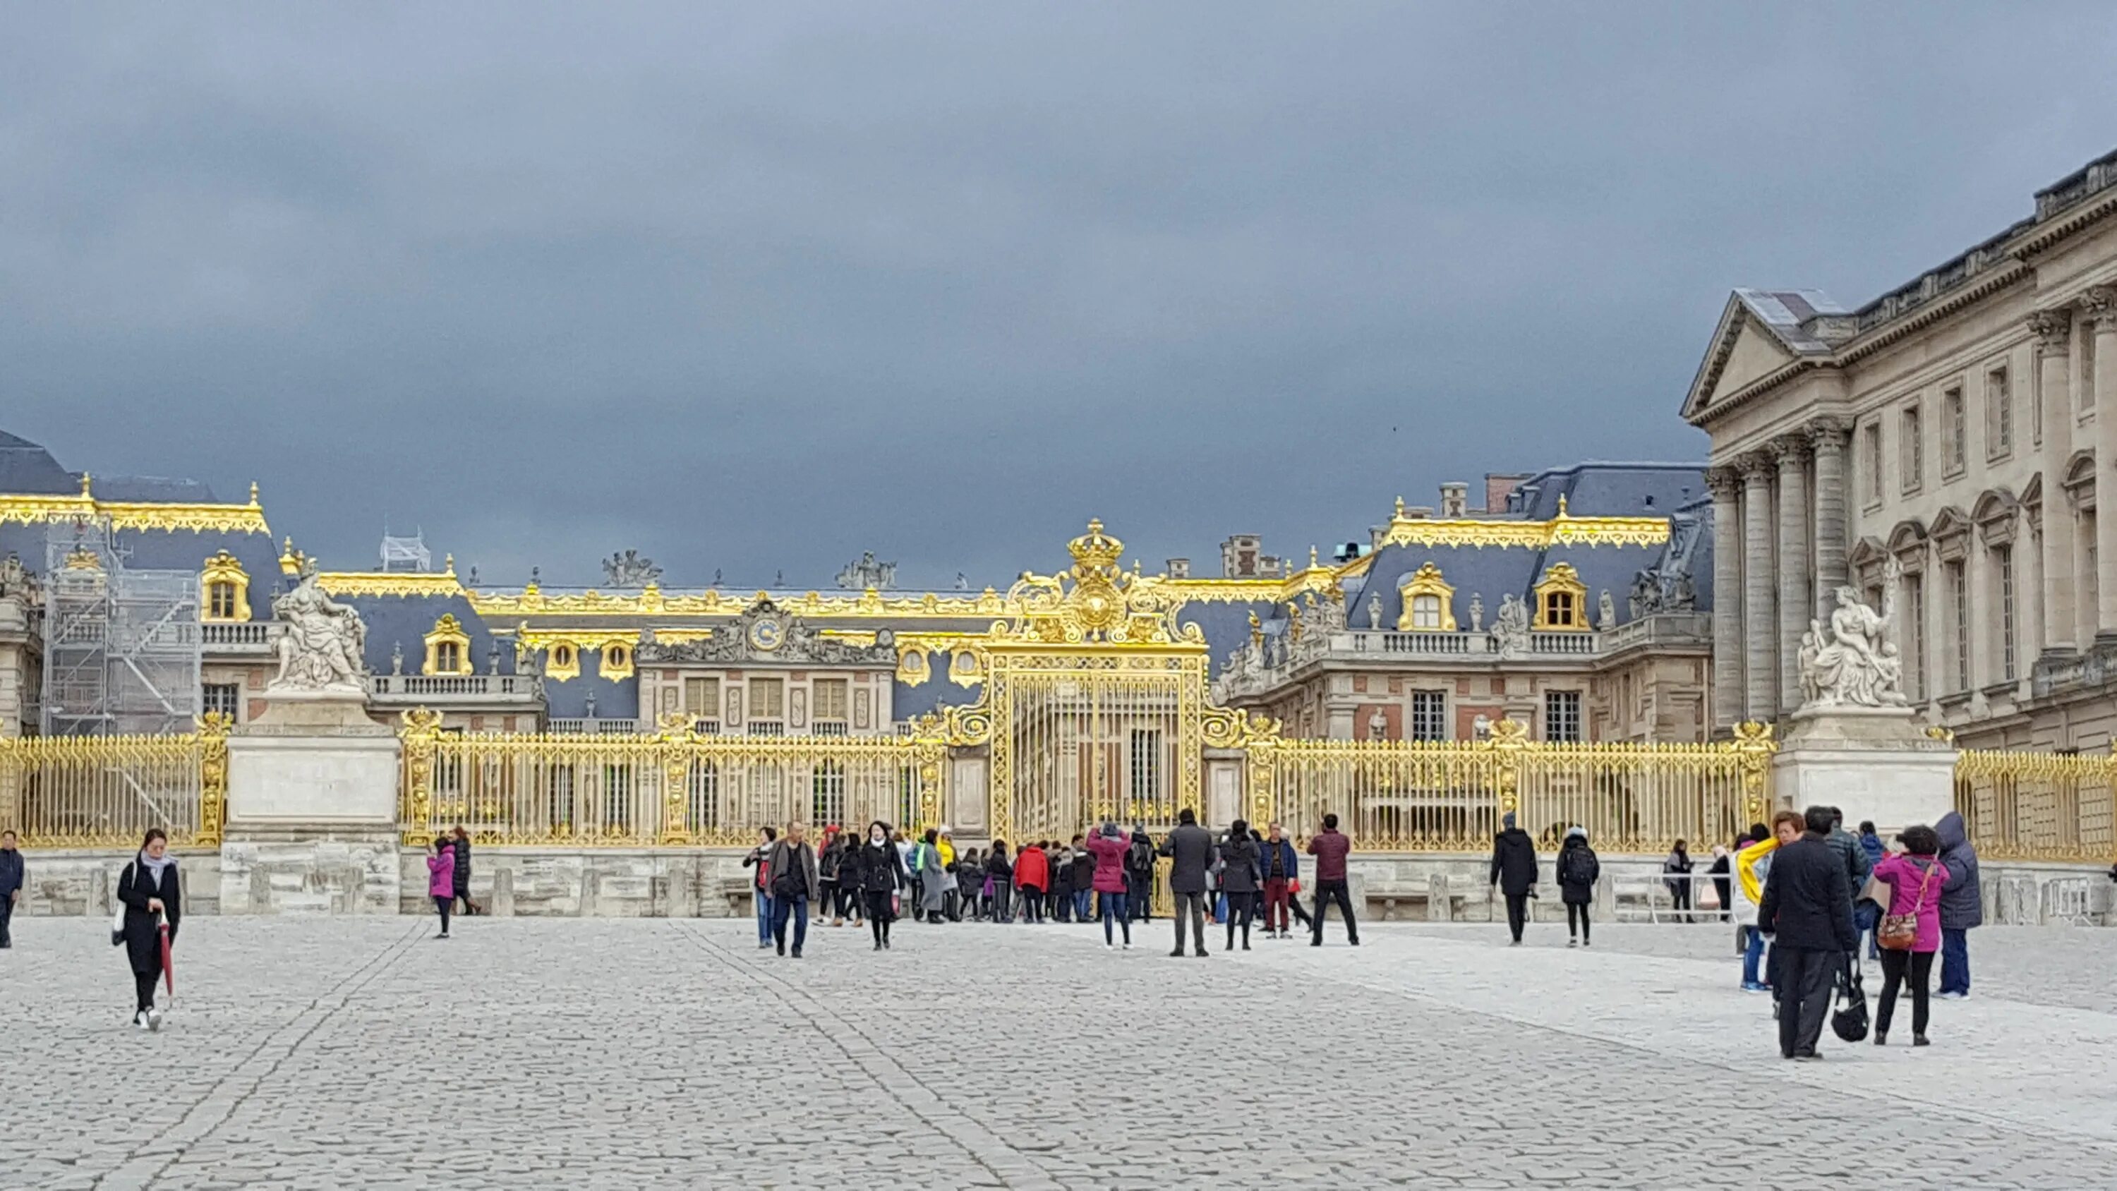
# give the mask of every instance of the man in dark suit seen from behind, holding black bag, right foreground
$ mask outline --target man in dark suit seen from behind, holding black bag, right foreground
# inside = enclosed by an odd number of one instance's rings
[[[1757,927],[1778,952],[1778,1053],[1812,1060],[1831,1009],[1831,977],[1859,948],[1852,931],[1852,880],[1829,844],[1831,810],[1810,806],[1808,831],[1778,848],[1763,878]]]

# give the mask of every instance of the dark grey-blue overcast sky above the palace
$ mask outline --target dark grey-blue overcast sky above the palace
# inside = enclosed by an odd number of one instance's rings
[[[2117,148],[2111,4],[0,4],[0,429],[328,567],[946,586],[1702,459]]]

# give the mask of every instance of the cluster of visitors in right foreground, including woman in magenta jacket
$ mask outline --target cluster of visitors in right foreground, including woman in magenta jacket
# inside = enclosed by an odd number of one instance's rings
[[[1780,810],[1770,827],[1736,836],[1732,855],[1742,990],[1772,994],[1785,1058],[1821,1058],[1825,1018],[1846,1041],[1865,1034],[1863,958],[1882,965],[1876,1045],[1888,1045],[1903,990],[1912,1045],[1926,1045],[1935,954],[1939,998],[1971,994],[1969,931],[1984,922],[1984,899],[1962,814],[1950,810],[1884,844],[1874,823],[1846,831],[1835,806]]]

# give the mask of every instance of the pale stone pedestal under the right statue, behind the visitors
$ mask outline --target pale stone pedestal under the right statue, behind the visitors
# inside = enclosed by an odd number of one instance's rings
[[[1829,707],[1793,713],[1772,759],[1778,806],[1835,806],[1882,838],[1933,825],[1956,806],[1956,751],[1926,736],[1905,707]]]

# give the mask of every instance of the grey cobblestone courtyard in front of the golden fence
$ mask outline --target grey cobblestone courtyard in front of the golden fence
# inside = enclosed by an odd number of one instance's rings
[[[1821,1064],[1719,927],[195,918],[159,1034],[99,931],[0,952],[4,1187],[2117,1185],[2117,931],[1979,931],[1931,1049]]]

